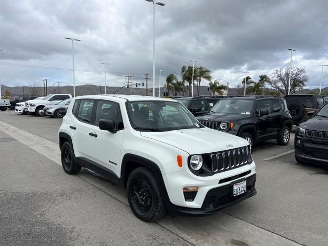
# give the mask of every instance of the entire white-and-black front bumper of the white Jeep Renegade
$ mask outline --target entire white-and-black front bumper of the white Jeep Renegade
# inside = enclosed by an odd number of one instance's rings
[[[253,178],[250,178],[253,177]],[[204,202],[208,202],[207,197],[213,191],[218,194],[218,199],[222,196],[230,194],[232,184],[241,180],[249,179],[247,181],[247,193],[240,195],[238,199],[226,200],[223,203],[215,203],[213,200],[212,208],[206,207]],[[165,187],[168,193],[169,210],[171,213],[188,213],[188,214],[211,214],[221,210],[231,204],[237,203],[248,197],[256,194],[255,190],[255,163],[254,161],[248,165],[241,166],[236,169],[224,171],[214,174],[212,176],[196,176],[189,169],[181,170],[163,175]],[[254,185],[250,184],[254,181]],[[251,183],[249,183],[251,182]],[[183,188],[198,187],[193,199],[187,199]],[[240,199],[239,199],[240,198]],[[175,212],[174,212],[175,211]]]

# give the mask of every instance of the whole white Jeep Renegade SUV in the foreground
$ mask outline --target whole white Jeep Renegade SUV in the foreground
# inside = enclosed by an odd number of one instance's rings
[[[144,221],[208,215],[256,194],[246,140],[204,127],[175,100],[93,95],[72,99],[59,128],[61,162],[127,188]]]

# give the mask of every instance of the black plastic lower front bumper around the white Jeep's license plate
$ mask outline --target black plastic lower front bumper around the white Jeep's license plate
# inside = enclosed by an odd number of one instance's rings
[[[232,196],[233,184],[243,180],[246,180],[247,192],[239,196],[233,197]],[[240,178],[230,182],[227,185],[209,190],[204,198],[201,208],[181,207],[181,206],[176,206],[173,203],[170,203],[168,206],[168,210],[170,211],[170,213],[177,214],[177,215],[191,215],[191,216],[211,215],[224,208],[232,206],[233,204],[236,204],[238,202],[241,202],[247,198],[256,195],[257,191],[255,189],[255,182],[256,182],[256,174],[253,174],[246,178]]]

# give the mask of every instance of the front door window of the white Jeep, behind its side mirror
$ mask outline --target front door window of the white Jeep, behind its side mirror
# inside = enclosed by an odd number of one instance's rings
[[[96,109],[96,121],[95,124],[99,125],[100,119],[111,119],[115,121],[115,126],[117,127],[117,112],[118,104],[112,101],[98,101]]]

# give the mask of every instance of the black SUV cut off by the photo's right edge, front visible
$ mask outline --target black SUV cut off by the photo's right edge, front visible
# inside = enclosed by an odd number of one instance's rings
[[[295,133],[295,159],[328,164],[328,103],[308,115],[314,117],[301,123]]]

